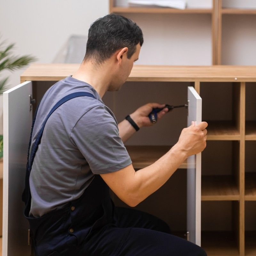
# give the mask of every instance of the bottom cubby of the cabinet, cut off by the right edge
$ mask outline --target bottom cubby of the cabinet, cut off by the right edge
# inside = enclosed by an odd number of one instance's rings
[[[245,202],[245,256],[256,255],[256,202]]]

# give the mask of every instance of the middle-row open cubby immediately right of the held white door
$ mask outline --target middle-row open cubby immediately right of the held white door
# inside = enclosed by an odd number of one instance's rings
[[[239,200],[239,142],[208,141],[202,152],[202,201]]]

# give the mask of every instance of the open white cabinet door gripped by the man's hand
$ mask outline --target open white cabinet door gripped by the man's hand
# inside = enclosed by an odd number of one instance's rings
[[[202,99],[188,87],[188,126],[202,121]],[[195,165],[196,163],[196,165]],[[187,231],[188,240],[201,246],[201,153],[188,157],[187,171]]]

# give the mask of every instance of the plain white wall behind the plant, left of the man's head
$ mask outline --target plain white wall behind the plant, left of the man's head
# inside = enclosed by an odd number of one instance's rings
[[[37,62],[50,63],[70,35],[87,35],[91,23],[106,14],[108,0],[1,1],[1,39],[15,43],[17,55],[33,54]],[[13,87],[20,83],[20,74],[25,69],[1,72],[0,79],[10,75],[9,84]],[[2,122],[0,108],[0,134],[3,133]]]

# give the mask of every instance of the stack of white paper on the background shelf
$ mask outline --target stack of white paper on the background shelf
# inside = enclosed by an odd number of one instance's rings
[[[129,4],[157,5],[161,7],[171,7],[176,9],[186,9],[184,0],[128,0]]]

